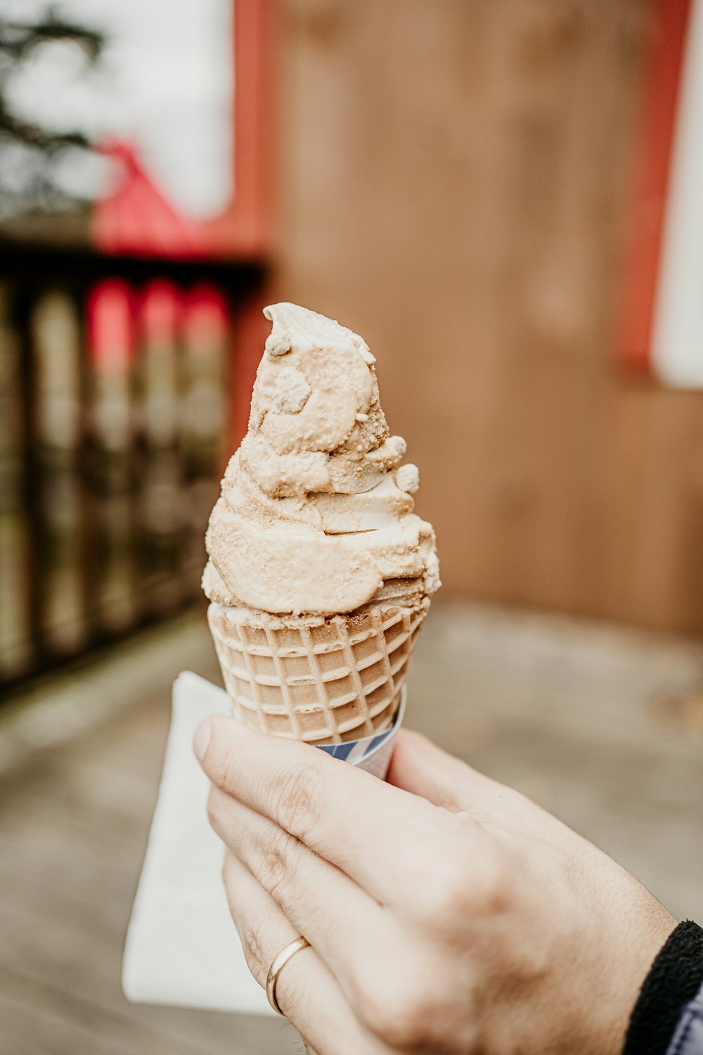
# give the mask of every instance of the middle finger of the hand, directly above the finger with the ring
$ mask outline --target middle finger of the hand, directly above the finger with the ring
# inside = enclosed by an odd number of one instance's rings
[[[391,941],[388,914],[345,872],[214,786],[208,811],[228,849],[352,995],[353,979],[369,956]]]

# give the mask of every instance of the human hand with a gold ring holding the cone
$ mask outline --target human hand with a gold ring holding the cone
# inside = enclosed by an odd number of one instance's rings
[[[319,1055],[605,1055],[675,920],[516,791],[401,730],[389,783],[210,718],[196,753],[249,966]]]

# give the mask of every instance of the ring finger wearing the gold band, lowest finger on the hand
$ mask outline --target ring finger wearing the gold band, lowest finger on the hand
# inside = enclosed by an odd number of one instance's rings
[[[224,887],[249,970],[262,989],[273,960],[298,932],[235,857],[224,859]],[[276,1000],[287,1018],[325,1055],[380,1055],[364,1034],[339,986],[314,947],[296,953],[281,967]]]

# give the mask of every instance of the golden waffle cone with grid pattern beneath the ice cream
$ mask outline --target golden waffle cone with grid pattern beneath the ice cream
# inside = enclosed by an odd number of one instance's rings
[[[211,605],[233,715],[276,736],[340,744],[393,722],[429,601],[353,615],[272,616]]]

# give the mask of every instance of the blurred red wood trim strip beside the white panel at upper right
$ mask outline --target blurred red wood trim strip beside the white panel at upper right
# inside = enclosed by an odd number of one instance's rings
[[[666,199],[671,174],[691,0],[655,0],[645,63],[632,233],[627,255],[620,347],[636,369],[649,367]]]

